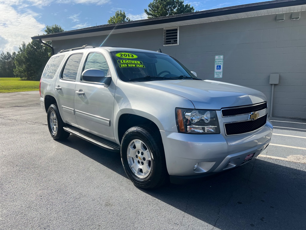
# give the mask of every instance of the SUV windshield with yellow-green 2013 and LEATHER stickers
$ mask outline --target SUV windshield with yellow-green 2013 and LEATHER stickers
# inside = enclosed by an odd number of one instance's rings
[[[181,63],[162,53],[112,51],[110,54],[119,78],[125,82],[197,79]]]

